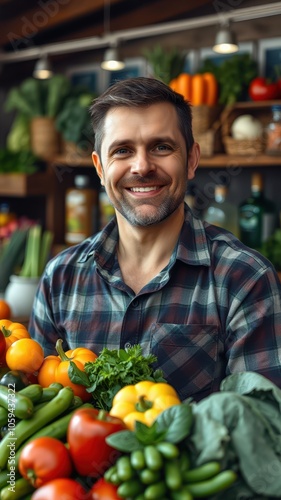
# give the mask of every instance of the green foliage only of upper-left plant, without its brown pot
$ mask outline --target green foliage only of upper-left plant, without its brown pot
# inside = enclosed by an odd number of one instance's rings
[[[36,117],[52,118],[62,137],[77,144],[90,123],[88,107],[93,97],[62,74],[47,80],[27,78],[9,91],[5,103],[6,112],[17,113],[7,136],[8,149],[31,149],[30,123]]]

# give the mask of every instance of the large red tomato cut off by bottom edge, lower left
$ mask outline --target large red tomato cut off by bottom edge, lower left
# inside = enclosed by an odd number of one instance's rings
[[[89,493],[78,481],[69,478],[53,479],[38,488],[31,500],[90,500]]]

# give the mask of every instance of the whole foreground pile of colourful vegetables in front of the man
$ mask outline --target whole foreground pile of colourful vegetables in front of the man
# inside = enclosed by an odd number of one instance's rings
[[[281,390],[262,375],[181,402],[140,346],[44,357],[23,325],[0,334],[0,499],[281,498]]]

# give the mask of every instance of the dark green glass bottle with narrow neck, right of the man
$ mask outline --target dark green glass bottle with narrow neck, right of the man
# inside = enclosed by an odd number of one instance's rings
[[[255,173],[251,178],[251,196],[239,206],[240,239],[245,245],[259,249],[275,231],[275,204],[264,195],[263,178]]]

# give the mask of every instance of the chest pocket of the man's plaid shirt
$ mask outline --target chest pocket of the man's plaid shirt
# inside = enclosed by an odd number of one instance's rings
[[[181,400],[200,400],[212,391],[218,362],[216,325],[152,325],[151,352]]]

